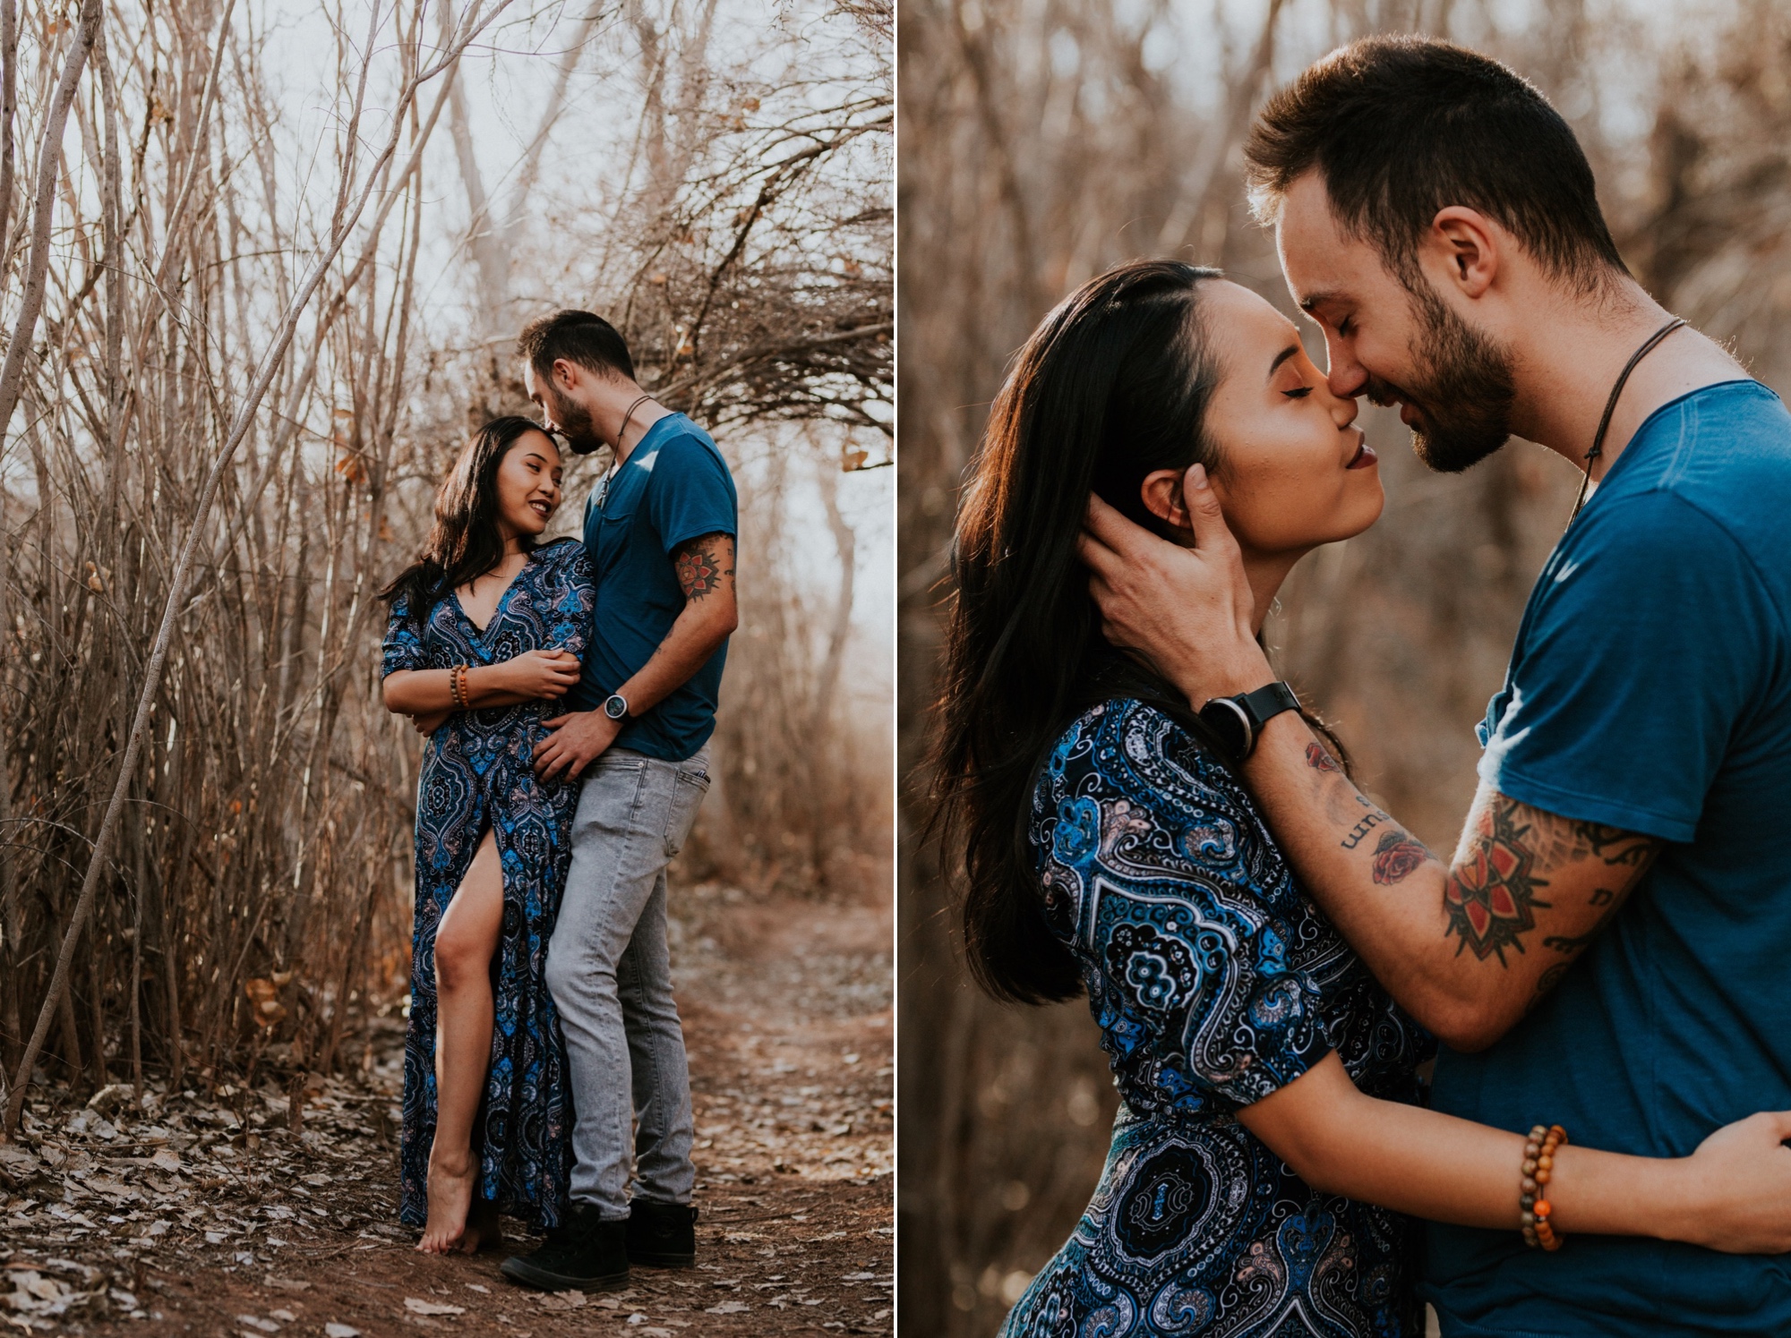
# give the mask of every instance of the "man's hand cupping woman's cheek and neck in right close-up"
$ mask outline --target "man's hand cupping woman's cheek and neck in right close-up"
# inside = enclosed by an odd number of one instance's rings
[[[1187,470],[1182,495],[1195,547],[1159,538],[1091,497],[1080,553],[1107,640],[1143,655],[1200,707],[1259,689],[1273,671],[1255,640],[1243,555],[1200,465]]]

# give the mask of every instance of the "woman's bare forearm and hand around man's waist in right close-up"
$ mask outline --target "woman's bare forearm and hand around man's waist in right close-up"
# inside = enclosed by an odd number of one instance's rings
[[[1521,1134],[1365,1097],[1336,1054],[1239,1109],[1238,1122],[1324,1193],[1517,1232]],[[1556,1152],[1546,1186],[1549,1220],[1562,1236],[1655,1236],[1727,1254],[1787,1252],[1786,1138],[1791,1113],[1727,1125],[1689,1157],[1630,1157],[1569,1143]]]

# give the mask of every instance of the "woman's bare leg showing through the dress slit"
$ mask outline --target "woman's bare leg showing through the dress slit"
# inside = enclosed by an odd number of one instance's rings
[[[430,1145],[430,1220],[419,1250],[450,1254],[478,1249],[496,1216],[473,1211],[478,1168],[473,1120],[491,1068],[491,957],[503,927],[503,869],[485,830],[473,864],[435,930],[435,1141]]]

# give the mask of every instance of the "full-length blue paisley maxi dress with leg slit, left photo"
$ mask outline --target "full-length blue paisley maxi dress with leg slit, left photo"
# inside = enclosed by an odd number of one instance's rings
[[[480,631],[453,592],[421,617],[392,603],[383,673],[450,669],[561,648],[584,658],[596,583],[584,546],[544,544]],[[503,866],[503,928],[493,961],[491,1071],[473,1129],[478,1195],[534,1225],[559,1224],[571,1170],[571,1095],[559,1014],[546,986],[548,939],[571,862],[577,782],[543,782],[532,766],[555,701],[462,710],[430,735],[417,776],[417,903],[405,1032],[399,1220],[428,1218],[435,1138],[435,927],[489,826]]]

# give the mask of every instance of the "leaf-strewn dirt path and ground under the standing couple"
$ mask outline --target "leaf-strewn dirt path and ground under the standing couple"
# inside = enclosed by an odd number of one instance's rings
[[[435,1259],[394,1220],[403,1023],[360,1080],[34,1102],[0,1145],[0,1322],[77,1334],[444,1329],[890,1333],[892,1063],[887,900],[675,894],[675,978],[697,1107],[695,1270],[544,1297],[503,1254]],[[510,1224],[512,1227],[516,1224]],[[528,1241],[521,1241],[527,1245]]]

